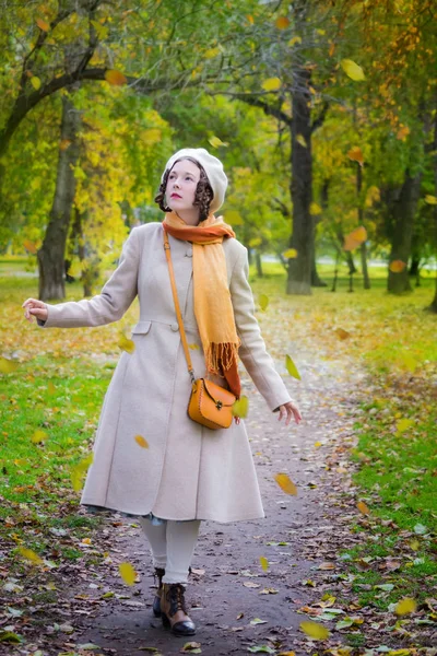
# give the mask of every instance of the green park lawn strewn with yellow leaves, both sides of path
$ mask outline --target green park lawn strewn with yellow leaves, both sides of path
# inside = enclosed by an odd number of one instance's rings
[[[268,298],[265,312],[258,307],[257,314],[277,361],[284,350],[296,362],[299,353],[312,352],[339,368],[368,372],[369,385],[351,390],[363,410],[351,458],[359,465],[358,496],[369,508],[352,527],[361,531],[362,547],[343,554],[356,576],[356,593],[362,602],[375,599],[375,590],[366,588],[386,585],[389,576],[393,590],[383,590],[377,604],[387,607],[402,595],[424,598],[437,575],[432,540],[437,532],[437,317],[424,312],[434,282],[426,278],[412,294],[392,297],[382,278],[370,291],[357,279],[349,293],[343,277],[335,293],[328,286],[290,297],[281,267],[265,265],[264,271],[256,279],[251,270],[251,283],[257,302]],[[118,324],[46,331],[22,318],[21,304],[36,295],[36,280],[0,279],[0,294],[2,355],[20,362],[14,373],[0,374],[0,538],[10,549],[10,571],[22,567],[17,547],[23,544],[55,562],[97,558],[80,547],[99,520],[80,511],[71,471],[90,450],[119,356],[119,332],[134,325],[137,302]],[[68,298],[80,297],[80,286],[69,285]],[[48,436],[34,444],[37,430]],[[67,535],[60,539],[54,528]],[[378,564],[400,560],[401,565],[363,572],[357,566],[363,558]]]

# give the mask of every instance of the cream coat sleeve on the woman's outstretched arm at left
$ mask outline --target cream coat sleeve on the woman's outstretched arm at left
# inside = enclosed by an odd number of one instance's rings
[[[38,319],[38,325],[44,328],[79,328],[117,321],[137,296],[139,263],[139,235],[133,229],[125,242],[118,267],[101,294],[90,300],[47,305],[47,319]]]

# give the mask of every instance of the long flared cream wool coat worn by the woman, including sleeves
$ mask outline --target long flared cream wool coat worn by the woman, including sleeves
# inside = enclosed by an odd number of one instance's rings
[[[196,376],[205,364],[193,312],[192,245],[169,236]],[[246,248],[223,242],[239,356],[270,410],[291,400],[253,315]],[[161,223],[134,227],[118,268],[91,300],[48,305],[45,328],[117,321],[139,295],[133,353],[123,352],[105,396],[81,503],[165,519],[228,523],[264,517],[244,421],[212,431],[191,421],[190,377],[176,320]],[[214,382],[225,385],[223,378]],[[143,435],[149,448],[134,440]]]

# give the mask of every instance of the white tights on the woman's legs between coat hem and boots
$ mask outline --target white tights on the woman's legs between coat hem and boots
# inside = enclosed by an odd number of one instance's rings
[[[200,519],[167,519],[165,524],[156,526],[147,517],[141,517],[140,524],[151,546],[154,566],[165,569],[163,582],[187,583]]]

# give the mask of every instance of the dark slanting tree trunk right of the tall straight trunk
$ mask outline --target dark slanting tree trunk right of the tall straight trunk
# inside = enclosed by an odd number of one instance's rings
[[[399,197],[394,200],[392,208],[393,230],[391,237],[390,263],[401,260],[405,263],[403,271],[395,273],[390,271],[387,289],[393,294],[411,291],[409,271],[406,265],[411,255],[411,242],[413,236],[414,216],[421,192],[422,174],[414,177],[405,172],[405,179]]]

